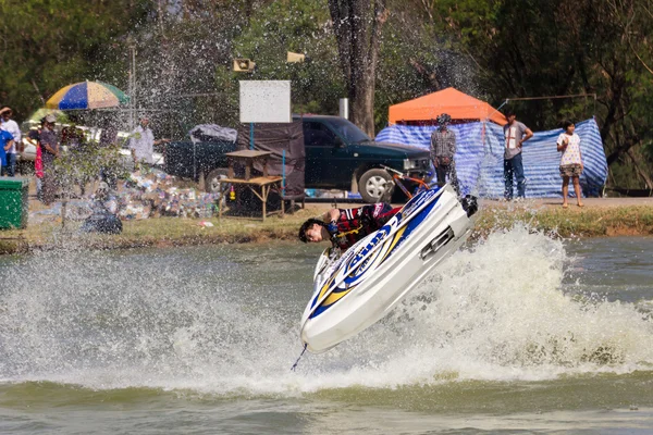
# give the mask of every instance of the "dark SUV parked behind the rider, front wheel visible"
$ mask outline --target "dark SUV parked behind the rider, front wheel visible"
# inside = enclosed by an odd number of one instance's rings
[[[382,166],[419,178],[429,176],[429,151],[377,142],[338,116],[304,115],[294,119],[303,121],[308,188],[358,191],[366,202],[378,202],[389,199],[384,194],[386,187],[392,186],[392,177]]]

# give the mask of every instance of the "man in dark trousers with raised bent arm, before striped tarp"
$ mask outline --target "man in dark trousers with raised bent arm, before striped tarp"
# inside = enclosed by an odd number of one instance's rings
[[[508,112],[508,123],[504,125],[505,151],[504,151],[504,198],[513,199],[513,175],[517,178],[517,198],[526,198],[526,177],[523,176],[523,163],[521,161],[521,146],[533,137],[533,132],[519,121],[515,112]]]

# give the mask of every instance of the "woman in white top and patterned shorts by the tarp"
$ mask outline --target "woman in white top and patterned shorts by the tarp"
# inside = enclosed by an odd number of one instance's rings
[[[560,158],[560,176],[563,177],[563,209],[569,207],[569,178],[574,181],[574,191],[578,207],[583,207],[580,198],[580,174],[582,173],[582,156],[580,154],[580,137],[574,133],[576,125],[570,121],[563,123],[565,132],[557,139],[557,150],[563,153]]]

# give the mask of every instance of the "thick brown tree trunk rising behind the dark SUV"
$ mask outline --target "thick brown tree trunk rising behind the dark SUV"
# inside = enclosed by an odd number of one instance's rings
[[[374,136],[379,45],[389,10],[385,0],[329,0],[340,64],[352,101],[352,121]]]

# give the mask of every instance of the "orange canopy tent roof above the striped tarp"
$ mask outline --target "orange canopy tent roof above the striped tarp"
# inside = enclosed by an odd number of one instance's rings
[[[452,120],[489,120],[498,125],[507,123],[503,113],[492,105],[454,88],[391,105],[389,122],[390,125],[411,121],[430,122],[441,113],[449,114]]]

